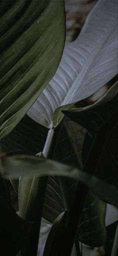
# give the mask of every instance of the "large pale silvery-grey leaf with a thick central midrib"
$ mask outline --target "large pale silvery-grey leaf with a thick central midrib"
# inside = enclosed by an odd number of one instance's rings
[[[98,1],[78,38],[65,45],[59,67],[28,111],[46,127],[56,126],[61,110],[93,94],[117,73],[117,1]]]

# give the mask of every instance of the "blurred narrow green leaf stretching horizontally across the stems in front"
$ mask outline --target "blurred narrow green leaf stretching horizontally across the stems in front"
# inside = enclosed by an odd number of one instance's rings
[[[117,188],[109,183],[91,176],[83,170],[72,168],[61,163],[29,155],[1,156],[3,174],[5,177],[18,178],[19,176],[63,176],[81,181],[101,200],[117,207]],[[99,189],[100,187],[100,189]]]

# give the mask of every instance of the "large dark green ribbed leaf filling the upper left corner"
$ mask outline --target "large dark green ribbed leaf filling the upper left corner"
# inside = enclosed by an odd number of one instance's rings
[[[65,28],[63,1],[8,0],[0,2],[0,11],[1,139],[54,75]]]

